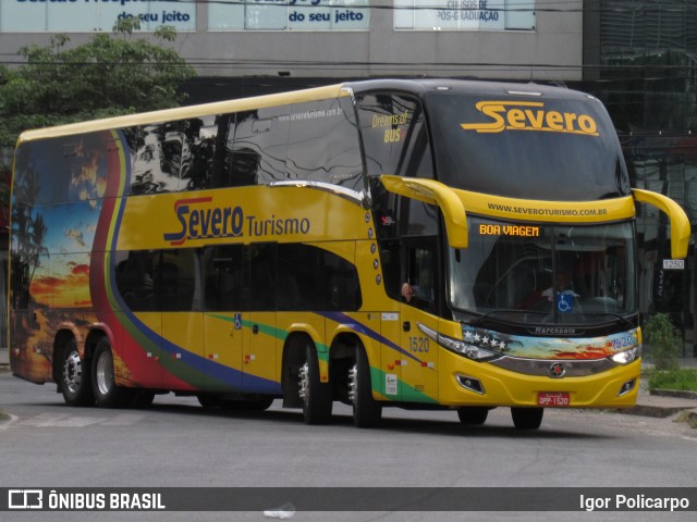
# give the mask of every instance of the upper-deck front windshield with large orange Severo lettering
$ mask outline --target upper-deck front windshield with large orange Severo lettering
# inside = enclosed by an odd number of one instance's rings
[[[427,96],[440,182],[518,199],[590,201],[631,194],[616,133],[595,98]]]

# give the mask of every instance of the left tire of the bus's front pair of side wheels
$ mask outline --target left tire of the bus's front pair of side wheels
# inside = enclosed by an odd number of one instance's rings
[[[327,424],[333,406],[332,388],[319,380],[319,360],[313,343],[305,348],[305,362],[297,375],[298,395],[303,400],[303,418],[306,424]]]

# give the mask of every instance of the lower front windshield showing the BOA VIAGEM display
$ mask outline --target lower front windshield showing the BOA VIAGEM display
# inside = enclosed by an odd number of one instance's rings
[[[634,225],[512,225],[469,216],[450,250],[460,311],[536,324],[599,324],[636,313]]]

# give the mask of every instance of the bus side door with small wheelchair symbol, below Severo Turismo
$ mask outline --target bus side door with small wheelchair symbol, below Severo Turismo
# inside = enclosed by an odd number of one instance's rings
[[[243,386],[242,352],[248,344],[244,326],[249,294],[242,245],[203,250],[204,340],[207,361],[205,387],[209,391],[240,391]]]

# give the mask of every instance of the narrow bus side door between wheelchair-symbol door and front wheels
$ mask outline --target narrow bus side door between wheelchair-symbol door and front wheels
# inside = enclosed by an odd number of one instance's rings
[[[268,391],[277,375],[277,245],[252,244],[249,254],[249,343],[243,350],[244,388]]]

